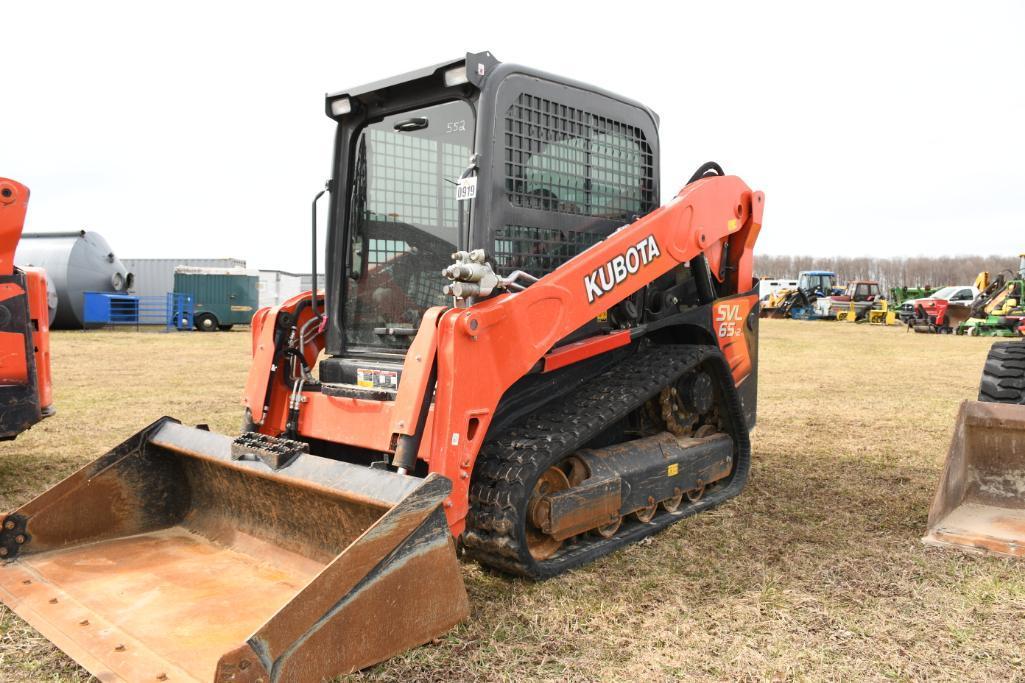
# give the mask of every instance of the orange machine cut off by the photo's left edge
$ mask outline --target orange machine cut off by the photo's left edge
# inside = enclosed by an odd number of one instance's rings
[[[17,268],[29,189],[0,177],[0,441],[53,414],[46,273]]]

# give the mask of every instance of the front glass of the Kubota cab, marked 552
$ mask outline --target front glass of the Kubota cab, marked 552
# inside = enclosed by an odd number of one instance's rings
[[[404,349],[423,312],[444,305],[441,272],[465,231],[456,202],[469,164],[474,112],[464,102],[371,123],[356,146],[350,201],[348,345]]]

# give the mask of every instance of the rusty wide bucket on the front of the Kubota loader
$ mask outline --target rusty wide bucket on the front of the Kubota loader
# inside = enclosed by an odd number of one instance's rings
[[[466,616],[447,479],[232,446],[164,418],[10,513],[0,599],[102,681],[320,681]]]

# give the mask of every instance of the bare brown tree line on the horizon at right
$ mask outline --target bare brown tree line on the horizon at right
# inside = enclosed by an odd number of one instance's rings
[[[762,278],[796,279],[801,271],[832,271],[843,284],[851,280],[877,280],[890,287],[945,287],[970,285],[982,271],[995,276],[1018,272],[1018,256],[754,256],[754,271]]]

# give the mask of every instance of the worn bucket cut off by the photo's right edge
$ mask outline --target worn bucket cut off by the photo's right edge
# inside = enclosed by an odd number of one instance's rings
[[[961,403],[922,540],[1025,557],[1025,406]]]

